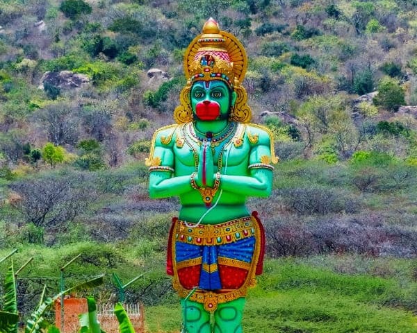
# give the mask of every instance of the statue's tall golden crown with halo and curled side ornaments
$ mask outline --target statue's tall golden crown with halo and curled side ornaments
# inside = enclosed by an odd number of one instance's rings
[[[248,123],[252,111],[247,105],[247,94],[242,86],[247,70],[247,56],[243,45],[234,35],[220,31],[212,17],[203,26],[202,34],[194,38],[184,56],[186,86],[181,90],[180,105],[174,110],[177,123],[193,120],[190,106],[190,89],[196,81],[222,80],[236,92],[236,102],[230,120]]]

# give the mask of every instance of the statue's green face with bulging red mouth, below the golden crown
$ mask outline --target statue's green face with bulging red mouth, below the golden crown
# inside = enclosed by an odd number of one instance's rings
[[[191,87],[190,101],[194,119],[228,119],[230,108],[236,101],[236,92],[231,92],[222,80],[197,81]]]

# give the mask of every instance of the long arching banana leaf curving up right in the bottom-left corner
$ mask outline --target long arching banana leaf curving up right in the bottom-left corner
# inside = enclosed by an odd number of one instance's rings
[[[87,282],[83,282],[81,284],[77,284],[75,287],[67,289],[62,293],[58,293],[58,295],[54,296],[53,298],[47,298],[42,302],[42,304],[36,309],[32,314],[31,318],[26,321],[26,327],[24,329],[25,333],[41,333],[42,322],[44,321],[43,315],[47,308],[53,304],[56,300],[59,300],[61,296],[65,295],[65,293],[69,293],[70,291],[79,290],[79,289],[86,289],[86,288],[93,288],[97,287],[100,284],[103,284],[103,276],[100,275],[99,277],[89,280]]]

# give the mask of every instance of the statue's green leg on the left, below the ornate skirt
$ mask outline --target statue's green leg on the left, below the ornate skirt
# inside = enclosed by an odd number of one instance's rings
[[[181,299],[181,307],[187,333],[211,333],[210,313],[203,304]]]

